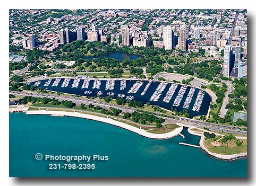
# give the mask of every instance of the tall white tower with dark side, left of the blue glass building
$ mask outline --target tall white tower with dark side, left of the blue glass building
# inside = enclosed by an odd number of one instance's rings
[[[231,45],[226,45],[224,49],[223,56],[223,76],[229,77],[232,70],[232,47]]]

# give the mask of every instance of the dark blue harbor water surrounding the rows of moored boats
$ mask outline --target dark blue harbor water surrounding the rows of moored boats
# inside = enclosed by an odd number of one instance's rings
[[[184,102],[185,102],[187,94],[189,93],[189,90],[191,88],[190,86],[187,87],[186,92],[185,92],[185,94],[182,98],[182,101],[181,101],[180,105],[178,107],[176,107],[176,106],[173,106],[173,102],[174,102],[174,100],[175,100],[175,98],[178,94],[178,91],[180,90],[182,85],[178,85],[178,87],[177,87],[172,99],[170,100],[170,102],[166,103],[166,102],[163,102],[163,99],[164,99],[169,87],[172,85],[171,83],[167,84],[167,86],[165,87],[165,89],[164,89],[163,93],[161,94],[160,98],[158,99],[158,101],[155,102],[155,101],[149,101],[149,100],[150,100],[151,95],[155,92],[155,90],[156,90],[156,88],[157,88],[157,86],[159,85],[160,82],[152,82],[150,84],[147,92],[143,96],[141,96],[141,93],[143,92],[143,90],[145,89],[145,87],[146,87],[146,85],[149,81],[142,81],[143,84],[136,93],[127,93],[130,90],[130,88],[133,86],[133,84],[136,82],[136,80],[126,80],[126,88],[122,91],[120,90],[120,82],[121,81],[119,81],[119,80],[115,81],[114,90],[105,90],[105,87],[106,87],[106,81],[105,80],[101,80],[101,85],[100,85],[99,89],[98,88],[92,88],[93,82],[95,81],[93,79],[90,80],[90,84],[89,84],[88,88],[81,88],[82,84],[83,84],[83,81],[84,81],[83,79],[81,79],[81,81],[78,85],[78,88],[75,88],[75,87],[72,88],[72,83],[73,83],[74,79],[70,80],[69,85],[67,87],[61,87],[62,83],[64,82],[64,78],[61,79],[58,86],[52,86],[55,79],[52,79],[52,82],[49,84],[49,86],[44,86],[45,82],[47,82],[47,81],[48,81],[48,79],[42,80],[40,85],[37,86],[37,87],[41,87],[41,88],[44,88],[44,89],[47,88],[47,90],[52,90],[52,91],[56,91],[56,92],[64,92],[64,93],[84,95],[84,96],[97,96],[98,91],[103,92],[103,94],[101,96],[108,96],[107,93],[111,92],[111,93],[114,93],[114,99],[118,98],[117,97],[118,94],[124,94],[125,97],[123,99],[126,99],[126,96],[134,96],[134,100],[141,101],[144,104],[149,102],[152,105],[158,105],[159,107],[165,108],[165,109],[168,109],[168,110],[170,110],[173,107],[174,109],[176,108],[177,111],[182,111],[183,110]],[[30,84],[34,85],[35,83],[36,82],[32,82]],[[91,94],[85,94],[84,91],[91,91]],[[208,112],[208,108],[209,108],[209,105],[210,105],[211,98],[210,98],[209,94],[206,93],[206,92],[204,92],[204,97],[203,97],[202,104],[201,104],[199,112],[192,110],[195,99],[197,98],[198,92],[199,92],[199,89],[196,88],[195,93],[193,95],[193,98],[191,100],[189,109],[187,109],[187,111],[190,114],[190,118],[192,118],[194,116],[206,115],[207,112]]]

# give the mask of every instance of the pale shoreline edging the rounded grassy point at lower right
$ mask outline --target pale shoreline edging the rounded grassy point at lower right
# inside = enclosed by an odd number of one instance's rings
[[[233,161],[233,160],[237,160],[237,159],[247,157],[247,152],[246,153],[239,153],[239,154],[229,154],[229,155],[212,153],[212,152],[210,152],[210,150],[208,150],[203,145],[203,140],[204,140],[203,134],[200,135],[200,134],[190,130],[190,128],[187,129],[187,132],[189,132],[192,135],[200,136],[199,146],[201,147],[201,149],[203,150],[204,153],[208,154],[211,157],[217,158],[217,159],[222,160],[222,161]]]

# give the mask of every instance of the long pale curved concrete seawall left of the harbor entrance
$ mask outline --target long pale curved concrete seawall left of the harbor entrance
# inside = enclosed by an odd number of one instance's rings
[[[116,121],[111,118],[103,118],[99,116],[93,116],[90,114],[84,114],[79,112],[65,112],[65,111],[50,111],[50,110],[29,110],[26,112],[26,114],[42,114],[42,115],[53,115],[53,116],[70,116],[70,117],[78,117],[78,118],[85,118],[90,120],[96,120],[100,122],[109,123],[111,125],[121,127],[127,130],[130,130],[132,132],[135,132],[136,134],[139,134],[144,137],[153,138],[153,139],[168,139],[177,136],[182,130],[183,127],[178,127],[174,129],[173,131],[166,132],[164,134],[153,134],[150,132],[145,131],[144,129],[139,129],[136,127],[133,127],[131,125],[122,123],[120,121]]]

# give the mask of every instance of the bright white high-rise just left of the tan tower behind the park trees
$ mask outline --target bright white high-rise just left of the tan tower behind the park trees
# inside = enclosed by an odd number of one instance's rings
[[[170,25],[167,25],[163,29],[163,42],[165,50],[174,49],[174,32]]]

